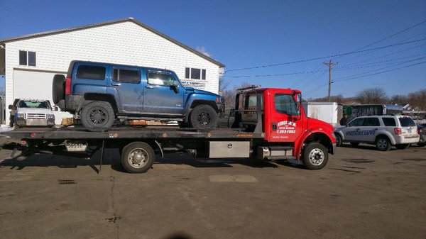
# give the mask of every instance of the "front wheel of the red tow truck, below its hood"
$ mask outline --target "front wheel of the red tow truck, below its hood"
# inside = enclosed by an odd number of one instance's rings
[[[322,169],[328,162],[327,148],[320,143],[310,143],[303,149],[302,162],[307,169]]]

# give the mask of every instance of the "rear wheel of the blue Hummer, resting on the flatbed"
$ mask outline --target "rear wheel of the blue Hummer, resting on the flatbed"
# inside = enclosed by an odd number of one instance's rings
[[[115,120],[111,104],[105,101],[94,101],[83,107],[80,119],[84,128],[93,132],[108,130]]]

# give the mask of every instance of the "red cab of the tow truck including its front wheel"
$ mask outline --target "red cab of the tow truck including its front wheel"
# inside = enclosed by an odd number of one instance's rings
[[[264,133],[256,148],[258,158],[302,160],[308,168],[320,169],[327,152],[334,154],[334,128],[306,116],[301,91],[256,86],[239,90],[232,127]]]

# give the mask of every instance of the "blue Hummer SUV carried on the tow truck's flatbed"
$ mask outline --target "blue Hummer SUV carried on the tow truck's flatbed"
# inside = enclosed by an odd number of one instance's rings
[[[93,131],[116,118],[214,128],[225,109],[222,96],[182,86],[171,70],[86,61],[72,61],[66,78],[53,77],[53,102]]]

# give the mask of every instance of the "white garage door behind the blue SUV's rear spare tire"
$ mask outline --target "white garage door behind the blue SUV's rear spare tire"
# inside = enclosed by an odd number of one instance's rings
[[[53,104],[52,81],[55,74],[59,73],[13,70],[13,99],[47,99]],[[54,113],[56,124],[60,124],[64,117],[72,117],[66,112],[54,111]]]

